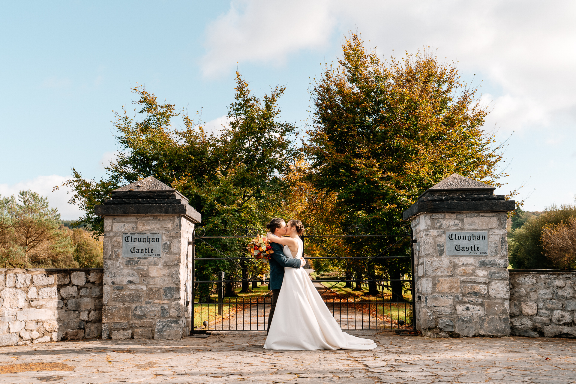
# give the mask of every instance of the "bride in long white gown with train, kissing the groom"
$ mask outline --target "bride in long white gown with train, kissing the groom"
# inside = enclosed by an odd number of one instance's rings
[[[286,257],[301,258],[304,244],[298,235],[303,232],[300,220],[290,220],[286,230],[290,237],[277,237],[271,233],[267,237],[284,246]],[[264,348],[366,350],[376,348],[376,344],[343,332],[304,269],[285,268],[282,290]]]

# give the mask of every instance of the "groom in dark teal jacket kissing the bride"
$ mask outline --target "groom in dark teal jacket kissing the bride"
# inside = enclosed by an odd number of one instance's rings
[[[268,227],[270,232],[275,236],[282,237],[286,234],[286,222],[280,218],[272,219]],[[276,302],[278,302],[278,295],[280,294],[280,288],[282,288],[284,267],[300,268],[306,263],[304,257],[301,259],[286,257],[284,255],[284,247],[278,243],[271,242],[271,246],[274,253],[272,253],[272,257],[270,258],[270,283],[268,283],[268,290],[272,291],[272,307],[268,315],[268,330],[270,330],[270,324],[272,324],[272,317],[276,309]]]

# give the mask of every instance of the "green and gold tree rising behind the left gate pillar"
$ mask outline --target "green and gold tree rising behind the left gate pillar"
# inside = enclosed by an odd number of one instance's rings
[[[278,215],[281,193],[287,189],[282,179],[295,149],[290,140],[294,126],[278,121],[278,98],[285,88],[272,88],[270,94],[256,97],[239,73],[236,74],[234,102],[228,111],[229,127],[219,135],[206,134],[202,121],[194,121],[175,105],[158,102],[143,86],[138,95],[141,119],[128,116],[126,109],[116,113],[113,123],[122,149],[100,181],[85,180],[73,169],[66,185],[73,188],[70,203],[85,212],[80,221],[92,225],[95,235],[103,232],[103,220],[94,215],[94,206],[109,199],[120,185],[154,176],[177,189],[202,213],[202,225],[211,235],[233,235],[245,225],[262,228]],[[134,109],[136,112],[136,109]],[[172,126],[181,118],[183,130]],[[236,239],[221,239],[209,246],[196,246],[196,257],[221,257],[245,252]],[[220,255],[220,256],[219,256]],[[198,280],[213,279],[218,271],[226,278],[238,277],[232,262],[196,263]],[[204,286],[203,295],[207,294]],[[230,287],[228,287],[230,292]]]

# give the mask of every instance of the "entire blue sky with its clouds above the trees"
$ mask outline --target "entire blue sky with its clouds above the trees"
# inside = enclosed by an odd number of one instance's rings
[[[389,56],[418,47],[458,62],[490,102],[486,128],[510,138],[508,185],[527,210],[576,193],[576,7],[571,2],[18,2],[0,15],[0,194],[31,188],[63,218],[79,216],[52,187],[75,167],[104,175],[118,150],[113,112],[137,83],[202,108],[218,126],[234,71],[256,93],[286,85],[282,117],[304,128],[309,82],[349,29]],[[511,136],[510,136],[511,135]]]

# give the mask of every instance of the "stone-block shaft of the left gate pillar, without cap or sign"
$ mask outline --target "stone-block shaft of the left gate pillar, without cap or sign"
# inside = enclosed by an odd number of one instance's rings
[[[162,257],[123,258],[122,237],[162,234]],[[182,215],[104,216],[104,339],[180,340],[190,333],[194,224]]]

